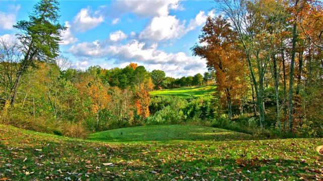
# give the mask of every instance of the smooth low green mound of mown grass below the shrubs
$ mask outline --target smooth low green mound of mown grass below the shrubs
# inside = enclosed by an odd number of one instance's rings
[[[251,136],[243,133],[223,129],[200,126],[156,125],[133,128],[123,128],[91,134],[90,140],[108,142],[133,141],[224,141],[250,139]]]

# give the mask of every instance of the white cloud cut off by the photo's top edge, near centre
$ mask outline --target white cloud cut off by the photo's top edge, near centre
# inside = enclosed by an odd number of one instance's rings
[[[118,1],[112,6],[115,14],[132,12],[140,16],[167,16],[170,10],[180,10],[179,0]]]

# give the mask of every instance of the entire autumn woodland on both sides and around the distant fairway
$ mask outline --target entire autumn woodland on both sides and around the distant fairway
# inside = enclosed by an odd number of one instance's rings
[[[323,135],[323,10],[320,1],[216,1],[192,53],[204,75],[175,79],[131,63],[71,68],[59,51],[59,5],[40,1],[0,41],[0,122],[71,137],[137,125],[196,124],[275,136]],[[133,62],[136,62],[134,60]],[[149,91],[216,85],[211,97]]]

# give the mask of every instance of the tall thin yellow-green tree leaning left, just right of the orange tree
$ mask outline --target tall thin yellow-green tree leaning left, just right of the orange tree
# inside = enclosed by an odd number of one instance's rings
[[[262,16],[266,11],[262,1],[216,0],[237,33],[237,38],[247,60],[254,87],[260,127],[264,123],[264,81],[270,53],[263,49],[263,32],[268,22]]]

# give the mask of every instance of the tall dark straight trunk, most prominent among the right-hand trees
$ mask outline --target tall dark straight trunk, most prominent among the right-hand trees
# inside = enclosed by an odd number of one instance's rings
[[[297,2],[295,2],[295,7],[297,6]],[[296,22],[293,25],[293,39],[292,39],[292,58],[291,58],[291,69],[289,75],[289,115],[288,115],[288,123],[289,123],[289,132],[292,132],[293,128],[293,80],[294,80],[294,62],[295,62],[295,46],[296,46]]]

